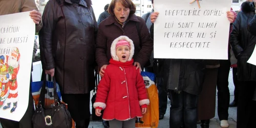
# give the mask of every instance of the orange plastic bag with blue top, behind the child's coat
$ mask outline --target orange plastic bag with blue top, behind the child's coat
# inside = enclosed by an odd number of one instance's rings
[[[147,105],[147,112],[142,118],[138,118],[135,127],[158,127],[159,123],[159,101],[158,90],[154,82],[155,74],[149,72],[141,72],[146,86],[147,97],[150,100],[150,105]]]

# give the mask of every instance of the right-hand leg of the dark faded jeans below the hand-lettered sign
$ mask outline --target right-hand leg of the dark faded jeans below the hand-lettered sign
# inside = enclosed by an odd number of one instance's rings
[[[183,92],[183,118],[186,128],[197,128],[198,96]]]

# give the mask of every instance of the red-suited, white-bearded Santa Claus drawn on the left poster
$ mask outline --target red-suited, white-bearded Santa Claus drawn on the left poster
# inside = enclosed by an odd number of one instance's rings
[[[17,108],[18,101],[18,85],[17,85],[17,74],[19,70],[19,50],[18,48],[12,48],[10,56],[6,56],[7,59],[7,67],[8,67],[8,79],[9,81],[5,83],[5,88],[9,89],[9,95],[7,97],[7,103],[4,106],[3,110],[10,110],[11,113],[15,111]],[[13,103],[13,105],[12,105]]]

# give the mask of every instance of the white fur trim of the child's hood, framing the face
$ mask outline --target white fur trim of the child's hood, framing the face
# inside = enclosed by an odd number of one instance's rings
[[[129,59],[128,59],[127,61],[131,61],[132,58],[133,58],[133,55],[134,55],[134,44],[133,44],[133,40],[130,39],[129,37],[127,37],[127,36],[124,36],[124,35],[117,37],[117,38],[112,42],[112,45],[111,45],[111,48],[110,48],[110,53],[111,53],[112,58],[113,58],[114,60],[116,60],[116,61],[119,61],[119,58],[118,58],[117,55],[116,55],[116,45],[117,45],[117,42],[118,42],[119,40],[126,40],[127,42],[129,42],[131,49],[130,49],[130,57],[129,57]]]

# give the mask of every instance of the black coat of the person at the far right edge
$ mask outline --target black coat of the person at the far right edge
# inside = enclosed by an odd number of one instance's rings
[[[256,44],[256,37],[248,31],[249,22],[255,15],[255,8],[254,4],[249,2],[244,2],[241,8],[242,11],[233,23],[229,41],[238,59],[238,80],[256,81],[256,66],[247,63]]]

